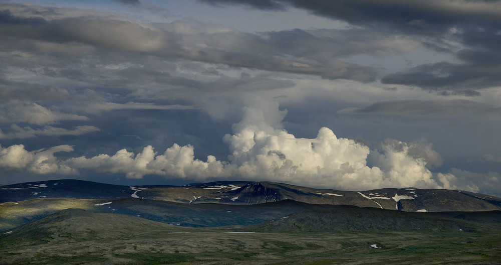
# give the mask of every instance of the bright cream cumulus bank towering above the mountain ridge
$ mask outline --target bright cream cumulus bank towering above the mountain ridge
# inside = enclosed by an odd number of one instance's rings
[[[441,158],[426,142],[407,145],[387,140],[381,144],[380,151],[371,151],[364,144],[336,137],[326,127],[321,128],[314,139],[296,138],[280,128],[285,112],[279,111],[278,105],[275,107],[274,111],[267,112],[244,109],[243,119],[233,126],[233,135],[223,138],[230,151],[228,161],[219,161],[214,156],[201,161],[195,159],[192,146],[177,144],[163,154],[147,146],[137,155],[123,149],[112,156],[101,154],[64,161],[53,154],[72,151],[69,146],[33,152],[26,151],[23,146],[11,146],[2,150],[0,165],[27,167],[40,174],[70,174],[85,169],[124,173],[127,178],[136,179],[155,174],[197,181],[266,179],[341,189],[442,187],[426,167],[441,163]],[[368,161],[372,167],[368,166]],[[451,185],[447,182],[446,186]]]

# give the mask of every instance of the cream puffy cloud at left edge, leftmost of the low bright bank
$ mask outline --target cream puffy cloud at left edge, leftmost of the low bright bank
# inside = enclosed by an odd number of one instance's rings
[[[73,147],[61,145],[49,149],[27,151],[23,145],[8,148],[0,146],[0,166],[8,169],[24,169],[37,174],[75,174],[76,171],[61,164],[54,153],[71,152]]]

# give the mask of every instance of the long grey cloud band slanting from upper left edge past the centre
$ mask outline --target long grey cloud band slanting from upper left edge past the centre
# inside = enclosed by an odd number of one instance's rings
[[[23,6],[16,8],[16,12],[23,13]],[[59,19],[46,20],[42,17],[24,18],[13,15],[10,10],[4,10],[4,13],[6,21],[17,22],[0,24],[0,34],[11,37],[6,42],[10,42],[13,47],[16,43],[12,38],[19,42],[22,40],[24,46],[28,45],[27,42],[30,43],[29,40],[33,43],[32,46],[41,42],[45,46],[77,43],[81,46],[72,48],[84,53],[86,49],[88,53],[95,53],[96,51],[89,50],[92,48],[113,49],[108,52],[146,53],[232,67],[318,75],[326,79],[374,81],[378,70],[336,60],[336,57],[357,52],[377,53],[382,49],[390,52],[402,50],[398,45],[383,47],[385,45],[381,45],[382,42],[388,44],[392,38],[383,35],[370,35],[374,45],[368,45],[369,37],[365,40],[351,40],[347,45],[343,44],[347,37],[343,37],[341,33],[314,36],[301,30],[256,34],[214,32],[203,28],[204,25],[190,22],[152,26],[113,17],[64,18],[60,15]],[[346,36],[353,34],[346,32]],[[62,74],[75,80],[83,78],[83,73],[79,73],[78,69],[65,69]]]

